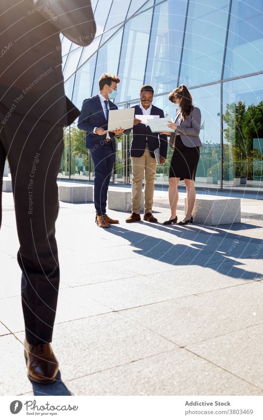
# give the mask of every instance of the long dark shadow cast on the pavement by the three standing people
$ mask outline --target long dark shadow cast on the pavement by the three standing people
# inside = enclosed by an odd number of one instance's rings
[[[123,237],[130,242],[131,246],[139,248],[133,250],[135,254],[167,264],[209,267],[229,277],[244,280],[260,280],[263,278],[261,273],[243,270],[240,261],[240,259],[253,258],[255,253],[257,259],[263,257],[263,251],[258,252],[262,248],[262,239],[244,236],[240,232],[244,229],[253,229],[252,225],[239,224],[240,231],[230,233],[223,230],[225,229],[224,225],[222,225],[222,229],[209,226],[200,227],[198,225],[185,227],[173,225],[171,228],[170,225],[165,227],[161,224],[145,223],[148,227],[155,229],[155,236],[130,231],[116,225],[114,227],[112,225],[111,229],[106,231]],[[140,225],[143,231],[143,224]],[[156,237],[156,231],[159,237]],[[171,235],[171,242],[162,239],[163,232]],[[176,243],[177,238],[179,243]],[[180,238],[188,240],[190,243],[188,245],[180,243]],[[239,261],[236,261],[236,259]],[[223,264],[226,262],[228,262],[227,267]]]

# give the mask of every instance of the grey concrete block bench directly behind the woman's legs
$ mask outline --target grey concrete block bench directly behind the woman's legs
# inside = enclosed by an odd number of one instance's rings
[[[185,208],[187,199],[185,198]],[[202,225],[226,225],[241,222],[240,198],[204,195],[195,199],[193,221]]]

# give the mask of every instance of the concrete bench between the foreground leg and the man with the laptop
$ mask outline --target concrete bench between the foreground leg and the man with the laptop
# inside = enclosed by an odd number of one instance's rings
[[[59,185],[59,200],[65,203],[87,203],[93,201],[93,187],[87,185]]]

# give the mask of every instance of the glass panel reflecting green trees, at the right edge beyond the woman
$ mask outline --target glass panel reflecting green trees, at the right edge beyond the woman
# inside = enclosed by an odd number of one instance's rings
[[[223,186],[263,187],[263,76],[223,84]]]

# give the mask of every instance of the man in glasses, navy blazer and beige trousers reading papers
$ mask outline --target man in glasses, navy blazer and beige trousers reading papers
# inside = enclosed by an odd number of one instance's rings
[[[149,85],[141,87],[141,102],[135,105],[135,115],[157,115],[164,118],[163,110],[151,104],[153,88]],[[125,131],[126,133],[126,131]],[[150,127],[141,120],[134,120],[133,136],[130,147],[132,159],[132,214],[126,219],[127,223],[141,220],[140,207],[142,197],[143,179],[144,187],[144,220],[156,223],[157,219],[151,214],[154,192],[154,178],[157,162],[154,150],[160,147],[160,164],[163,164],[167,155],[167,136],[152,133]]]

